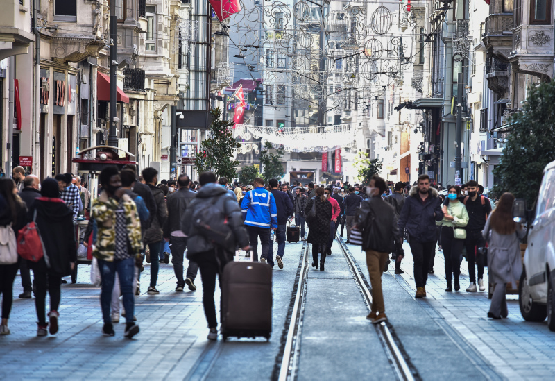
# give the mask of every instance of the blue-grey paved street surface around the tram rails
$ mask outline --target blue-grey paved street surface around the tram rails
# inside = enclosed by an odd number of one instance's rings
[[[0,337],[2,380],[274,380],[278,379],[289,332],[291,300],[305,250],[304,242],[287,243],[284,269],[273,272],[272,336],[266,339],[208,341],[202,286],[174,291],[170,264],[160,264],[160,295],[136,298],[141,335],[123,339],[100,335],[99,287],[90,284],[89,266],[79,266],[77,283],[62,285],[60,331],[35,337],[33,300],[15,299],[12,334]],[[368,280],[364,253],[339,242],[327,257],[326,271],[309,271],[302,327],[293,364],[298,380],[394,380],[395,369],[345,255]],[[277,245],[275,245],[275,248]],[[509,316],[486,319],[488,293],[446,294],[443,254],[436,252],[427,299],[415,299],[410,248],[395,275],[390,264],[383,276],[388,327],[395,344],[418,380],[549,380],[555,374],[555,336],[547,323],[522,320],[518,296],[507,296]],[[240,261],[248,261],[244,252]],[[145,266],[145,273],[149,265]],[[468,282],[468,271],[461,283]],[[487,269],[486,269],[487,271]],[[487,278],[487,277],[486,277]],[[67,278],[69,280],[69,277]],[[487,285],[486,285],[487,286]],[[14,293],[22,291],[19,276]],[[219,291],[216,291],[216,300]],[[33,359],[32,362],[29,359]]]

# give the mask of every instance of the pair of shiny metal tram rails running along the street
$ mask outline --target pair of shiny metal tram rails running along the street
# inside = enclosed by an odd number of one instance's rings
[[[368,282],[364,278],[364,274],[359,269],[356,260],[352,257],[348,247],[341,237],[336,237],[336,241],[341,247],[341,253],[345,257],[357,287],[361,291],[361,295],[366,303],[368,311],[372,305],[372,294],[370,292]],[[298,273],[298,280],[295,287],[293,287],[294,303],[290,313],[290,318],[286,323],[287,335],[285,336],[284,346],[282,346],[282,357],[280,362],[280,371],[274,380],[289,381],[296,380],[298,374],[298,359],[300,353],[300,344],[302,339],[302,323],[305,312],[305,303],[307,297],[307,280],[309,273],[309,244],[302,247],[302,255],[300,259],[300,269]],[[420,380],[418,373],[411,369],[409,363],[404,358],[403,351],[395,342],[393,334],[388,328],[386,323],[379,323],[374,325],[377,335],[384,347],[386,355],[393,367],[394,373],[398,380],[413,381]],[[274,373],[274,375],[276,375]]]

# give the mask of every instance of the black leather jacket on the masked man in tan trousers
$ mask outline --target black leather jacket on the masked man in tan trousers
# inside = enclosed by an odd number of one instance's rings
[[[391,253],[395,242],[397,253],[402,253],[403,240],[393,206],[374,196],[364,200],[357,210],[355,223],[362,230],[362,250]]]

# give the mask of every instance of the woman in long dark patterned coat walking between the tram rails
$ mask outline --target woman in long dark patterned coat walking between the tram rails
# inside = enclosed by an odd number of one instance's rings
[[[305,208],[305,216],[316,203],[316,217],[309,221],[307,242],[312,244],[312,267],[318,269],[318,252],[320,255],[320,270],[324,271],[327,253],[327,242],[330,239],[330,221],[332,221],[332,204],[324,196],[324,188],[316,188],[316,196],[310,198]]]

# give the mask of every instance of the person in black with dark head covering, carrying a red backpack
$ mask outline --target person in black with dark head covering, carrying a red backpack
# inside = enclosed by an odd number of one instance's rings
[[[69,276],[77,260],[77,244],[74,230],[74,211],[60,198],[59,185],[53,178],[46,178],[27,214],[40,232],[44,257],[38,262],[28,261],[35,278],[35,307],[37,310],[37,336],[58,332],[58,307],[60,306],[62,276]],[[36,218],[35,218],[36,214]],[[48,260],[48,264],[46,264]],[[49,323],[46,323],[46,291],[50,296]],[[110,290],[111,291],[111,290]]]

